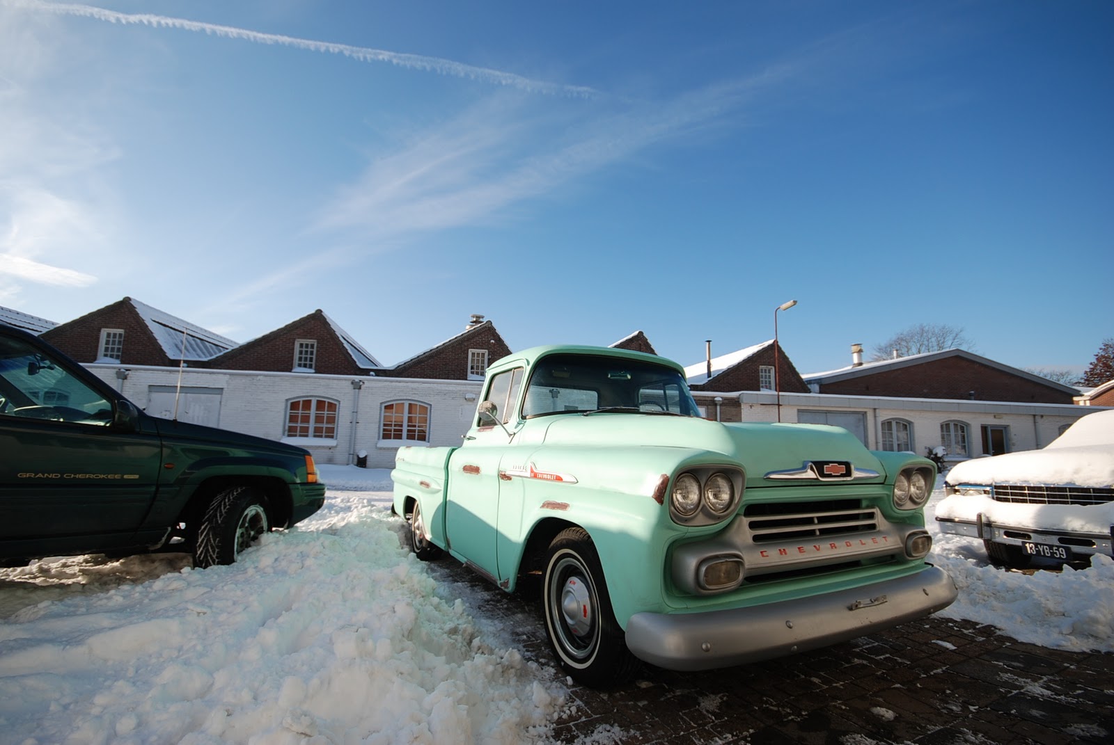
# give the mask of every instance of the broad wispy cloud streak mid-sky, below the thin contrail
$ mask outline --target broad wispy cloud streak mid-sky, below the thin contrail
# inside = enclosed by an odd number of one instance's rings
[[[696,130],[739,126],[745,104],[788,68],[704,87],[671,101],[595,107],[531,120],[519,102],[487,101],[375,159],[319,214],[316,229],[371,243],[495,219],[508,207]],[[727,125],[724,125],[727,120]]]

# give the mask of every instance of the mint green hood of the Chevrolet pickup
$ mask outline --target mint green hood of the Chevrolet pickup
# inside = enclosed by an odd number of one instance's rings
[[[740,463],[751,479],[770,471],[800,469],[805,461],[849,461],[885,474],[881,462],[839,427],[824,424],[721,423],[661,414],[557,414],[550,418],[545,445],[656,447],[706,450]]]

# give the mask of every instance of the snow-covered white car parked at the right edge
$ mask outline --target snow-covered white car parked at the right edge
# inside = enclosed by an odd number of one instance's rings
[[[940,532],[983,539],[997,566],[1112,556],[1114,410],[1083,416],[1043,450],[964,461],[945,494]]]

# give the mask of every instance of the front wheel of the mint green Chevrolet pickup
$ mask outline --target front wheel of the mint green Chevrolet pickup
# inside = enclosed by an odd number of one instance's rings
[[[568,675],[590,687],[629,677],[637,659],[615,620],[599,555],[583,528],[567,528],[549,545],[541,601],[549,644]]]

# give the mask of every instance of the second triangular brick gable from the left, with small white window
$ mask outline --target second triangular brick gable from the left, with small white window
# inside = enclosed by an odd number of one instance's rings
[[[368,371],[355,364],[344,343],[320,312],[311,313],[277,331],[241,344],[209,360],[205,366],[218,370],[290,372],[294,369],[295,343],[300,339],[317,342],[314,372],[324,375],[368,374]]]

